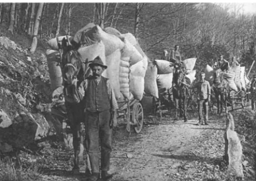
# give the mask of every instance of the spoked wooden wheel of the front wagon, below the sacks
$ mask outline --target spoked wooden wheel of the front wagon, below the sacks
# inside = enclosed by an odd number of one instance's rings
[[[141,132],[143,126],[143,108],[141,103],[136,102],[132,107],[132,122],[134,122],[134,131]]]

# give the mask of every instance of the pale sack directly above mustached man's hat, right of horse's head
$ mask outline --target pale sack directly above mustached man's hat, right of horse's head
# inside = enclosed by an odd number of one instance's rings
[[[93,59],[99,56],[102,62],[106,64],[105,46],[101,41],[86,47],[79,48],[78,52],[81,54],[83,61],[92,61]],[[89,75],[92,75],[92,71],[88,67],[85,73],[85,78]]]

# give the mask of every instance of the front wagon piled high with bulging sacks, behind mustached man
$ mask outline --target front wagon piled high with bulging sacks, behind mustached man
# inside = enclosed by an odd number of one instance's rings
[[[144,93],[144,77],[148,67],[148,57],[141,50],[136,38],[130,33],[120,34],[117,33],[117,30],[111,31],[113,30],[111,28],[106,28],[103,31],[98,25],[95,26],[92,23],[85,26],[83,30],[86,30],[86,27],[89,29],[88,32],[90,32],[90,28],[94,28],[94,34],[97,32],[97,38],[99,37],[100,40],[92,45],[79,48],[78,52],[85,60],[92,60],[97,56],[101,57],[108,66],[102,76],[110,79],[118,102],[118,117],[125,118],[127,131],[130,132],[132,126],[136,133],[141,132],[143,127],[141,99]],[[56,50],[58,43],[60,43],[58,38],[48,42],[53,44],[50,45],[53,50],[46,52],[53,90],[52,102],[41,104],[39,107],[42,111],[51,113],[53,118],[62,124],[62,129],[65,132],[66,127],[69,128],[69,126],[65,124],[67,112],[63,96],[62,70],[59,57],[56,57],[62,51]],[[90,70],[86,75],[90,75]]]

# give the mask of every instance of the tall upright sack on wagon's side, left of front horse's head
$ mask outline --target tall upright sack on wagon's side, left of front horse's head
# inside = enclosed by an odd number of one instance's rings
[[[62,86],[62,72],[60,66],[58,65],[60,59],[57,58],[57,54],[59,54],[58,51],[46,50],[52,91]]]

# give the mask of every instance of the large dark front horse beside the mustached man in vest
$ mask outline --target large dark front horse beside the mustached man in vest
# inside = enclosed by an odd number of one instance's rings
[[[63,68],[63,80],[64,80],[64,91],[65,95],[72,96],[72,91],[76,91],[74,87],[72,88],[72,81],[77,79],[76,85],[79,85],[83,79],[85,79],[86,70],[89,69],[88,60],[83,60],[81,55],[77,50],[69,50],[62,57],[62,63],[65,66]],[[83,159],[83,144],[85,142],[84,138],[84,109],[83,102],[72,102],[72,100],[67,100],[68,96],[65,97],[65,106],[67,109],[67,117],[72,134],[73,134],[73,147],[74,147],[74,167],[73,172],[79,172],[79,160]],[[82,99],[82,97],[81,97]],[[85,142],[86,143],[86,142]],[[87,157],[88,158],[88,157]],[[88,160],[87,160],[88,161]],[[89,168],[90,169],[90,168]]]

